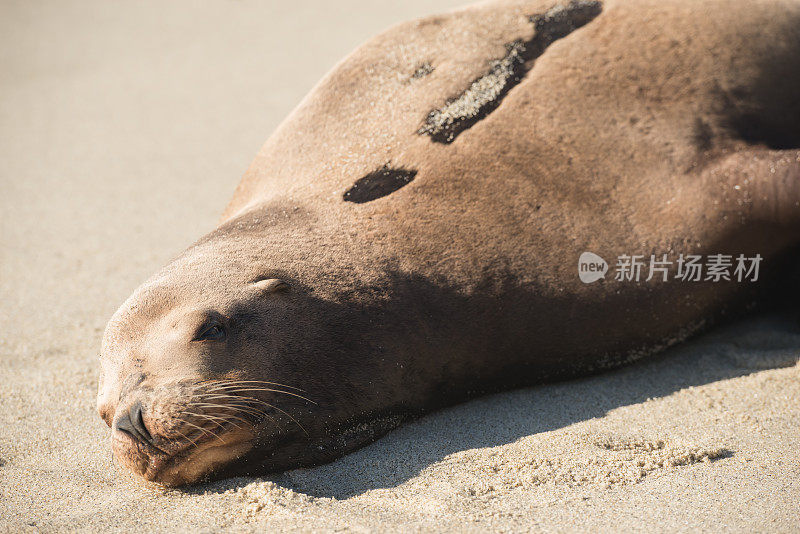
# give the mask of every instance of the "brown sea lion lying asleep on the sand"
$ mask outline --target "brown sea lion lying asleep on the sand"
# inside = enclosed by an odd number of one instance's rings
[[[325,462],[771,302],[798,82],[792,1],[512,0],[375,37],[109,322],[116,457],[164,485]],[[686,277],[698,255],[727,276]],[[637,281],[624,258],[671,263]]]

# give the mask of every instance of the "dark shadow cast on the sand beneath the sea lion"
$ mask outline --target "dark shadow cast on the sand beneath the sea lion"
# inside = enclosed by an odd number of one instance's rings
[[[629,367],[497,393],[431,413],[330,464],[269,479],[306,495],[345,499],[399,486],[460,451],[513,443],[685,388],[795,365],[798,359],[796,316],[760,314]],[[246,485],[252,479],[239,482]]]

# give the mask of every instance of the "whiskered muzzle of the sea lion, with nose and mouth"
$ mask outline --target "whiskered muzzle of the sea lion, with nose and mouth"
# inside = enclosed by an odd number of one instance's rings
[[[137,400],[114,417],[114,456],[137,476],[163,486],[200,482],[249,452],[256,438],[288,438],[291,433],[280,419],[302,429],[289,412],[273,404],[276,400],[265,397],[283,394],[313,403],[300,392],[269,382],[232,380],[141,388],[134,393]],[[273,426],[277,435],[267,428]]]

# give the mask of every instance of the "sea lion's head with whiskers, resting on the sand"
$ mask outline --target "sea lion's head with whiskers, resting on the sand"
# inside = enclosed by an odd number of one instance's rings
[[[233,248],[193,247],[106,327],[98,412],[118,462],[149,481],[323,460],[330,399],[347,412],[321,354],[340,350],[329,304]]]

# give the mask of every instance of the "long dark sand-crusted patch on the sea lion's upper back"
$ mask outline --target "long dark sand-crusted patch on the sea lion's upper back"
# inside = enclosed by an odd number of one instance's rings
[[[533,38],[507,44],[508,52],[492,62],[489,72],[473,81],[461,95],[431,111],[417,133],[429,135],[437,143],[452,143],[461,132],[497,109],[548,46],[589,23],[601,11],[599,1],[572,0],[568,5],[557,5],[544,14],[531,16],[536,28]]]

